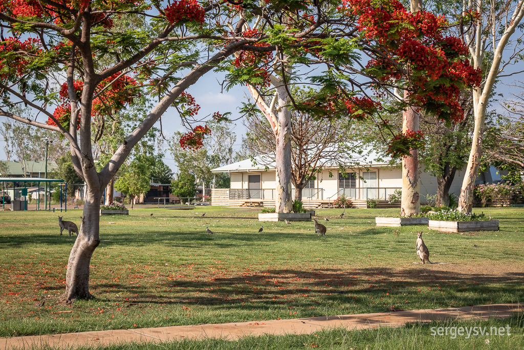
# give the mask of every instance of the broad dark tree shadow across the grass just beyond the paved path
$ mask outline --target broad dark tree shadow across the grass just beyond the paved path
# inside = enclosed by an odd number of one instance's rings
[[[385,311],[385,305],[391,304],[411,309],[413,306],[434,308],[522,301],[523,281],[523,272],[489,275],[435,271],[430,267],[403,271],[271,269],[231,277],[211,274],[206,279],[197,277],[193,281],[183,278],[157,281],[162,289],[171,291],[151,293],[137,289],[130,303],[220,305],[228,310],[269,310],[282,304],[304,309],[339,304],[377,312]],[[129,290],[123,284],[97,284],[96,288]]]

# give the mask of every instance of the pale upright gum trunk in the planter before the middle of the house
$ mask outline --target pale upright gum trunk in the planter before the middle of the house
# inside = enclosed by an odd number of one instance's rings
[[[291,111],[285,87],[278,91],[278,125],[276,125],[275,165],[277,172],[277,213],[291,213]]]

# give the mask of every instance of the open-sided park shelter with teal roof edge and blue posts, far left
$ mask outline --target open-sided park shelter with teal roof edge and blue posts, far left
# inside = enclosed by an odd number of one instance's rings
[[[5,210],[6,205],[6,198],[10,197],[10,209],[11,210],[27,210],[27,197],[28,197],[28,189],[36,187],[38,189],[38,199],[37,199],[37,207],[36,210],[40,209],[40,184],[49,184],[53,182],[60,183],[60,211],[64,209],[67,211],[67,183],[65,183],[62,179],[51,179],[51,178],[42,178],[42,177],[0,177],[0,183],[2,183],[2,195],[0,198],[2,198],[2,209]],[[9,184],[13,183],[13,187],[9,187]],[[24,186],[20,186],[20,183],[24,183]],[[36,186],[27,186],[27,184],[30,183],[36,183]],[[6,187],[7,184],[7,187]],[[46,186],[47,187],[47,186]],[[62,189],[63,188],[63,189]],[[47,189],[45,189],[47,191]],[[63,192],[62,192],[63,191]],[[49,192],[50,193],[50,192]],[[45,203],[44,203],[44,209],[43,210],[51,210],[51,198],[47,200],[47,198],[50,197],[45,195]],[[63,198],[63,199],[62,199]],[[49,207],[48,207],[49,205]],[[53,208],[54,209],[57,208]]]

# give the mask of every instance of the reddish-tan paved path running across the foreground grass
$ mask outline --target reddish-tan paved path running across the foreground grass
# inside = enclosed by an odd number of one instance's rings
[[[428,309],[384,312],[374,314],[310,317],[308,319],[270,320],[258,322],[233,322],[204,324],[198,326],[172,326],[80,332],[56,335],[23,336],[0,338],[0,349],[18,348],[75,348],[77,346],[109,345],[125,342],[163,342],[184,338],[226,338],[235,340],[243,336],[264,334],[310,334],[330,328],[364,330],[376,327],[399,327],[410,322],[433,320],[486,320],[488,317],[504,319],[515,313],[524,312],[524,304],[493,304],[482,306],[453,307],[450,309]]]

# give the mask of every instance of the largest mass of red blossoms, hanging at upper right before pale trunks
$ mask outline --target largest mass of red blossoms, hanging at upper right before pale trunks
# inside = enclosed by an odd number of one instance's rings
[[[351,9],[348,9],[348,5]],[[404,80],[411,89],[411,101],[441,119],[458,122],[464,118],[459,94],[467,85],[478,86],[480,71],[462,56],[468,49],[459,38],[444,37],[443,16],[408,12],[397,0],[347,0],[341,11],[355,16],[365,36],[385,48],[387,58],[370,60],[367,68],[380,79]],[[407,76],[394,62],[407,68]]]

